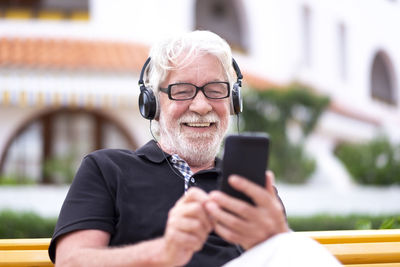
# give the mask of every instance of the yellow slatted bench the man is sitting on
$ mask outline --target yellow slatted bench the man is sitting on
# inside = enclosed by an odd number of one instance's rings
[[[400,229],[297,232],[323,244],[349,267],[400,267]],[[0,239],[0,266],[53,266],[49,238]]]

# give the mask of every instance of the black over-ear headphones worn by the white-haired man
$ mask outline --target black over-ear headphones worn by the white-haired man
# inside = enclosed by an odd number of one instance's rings
[[[153,120],[158,116],[158,101],[154,92],[151,88],[146,87],[144,84],[144,73],[146,72],[147,66],[150,64],[151,58],[149,57],[144,63],[142,70],[140,72],[139,77],[139,110],[140,114],[142,114],[143,118],[148,120]],[[237,80],[233,84],[232,87],[232,96],[231,96],[231,114],[238,115],[242,112],[243,103],[242,103],[242,95],[240,93],[240,88],[242,87],[242,79],[243,75],[240,72],[239,66],[236,63],[235,59],[232,58],[232,66],[235,70]]]

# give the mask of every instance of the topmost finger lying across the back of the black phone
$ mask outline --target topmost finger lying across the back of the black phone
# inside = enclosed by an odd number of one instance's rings
[[[266,194],[265,188],[253,183],[252,181],[240,177],[238,175],[231,175],[228,180],[229,184],[238,191],[243,192],[250,197],[256,206],[264,206],[271,200],[271,195]]]

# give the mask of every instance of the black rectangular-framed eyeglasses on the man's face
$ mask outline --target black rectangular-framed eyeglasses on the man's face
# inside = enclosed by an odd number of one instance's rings
[[[160,88],[161,92],[168,94],[171,100],[190,100],[196,97],[199,91],[209,99],[223,99],[229,97],[228,82],[209,82],[203,86],[196,86],[191,83],[173,83],[168,88]]]

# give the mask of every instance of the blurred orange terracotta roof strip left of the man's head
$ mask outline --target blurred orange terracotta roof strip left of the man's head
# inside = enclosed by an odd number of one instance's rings
[[[137,72],[148,51],[135,43],[3,37],[0,67]]]

